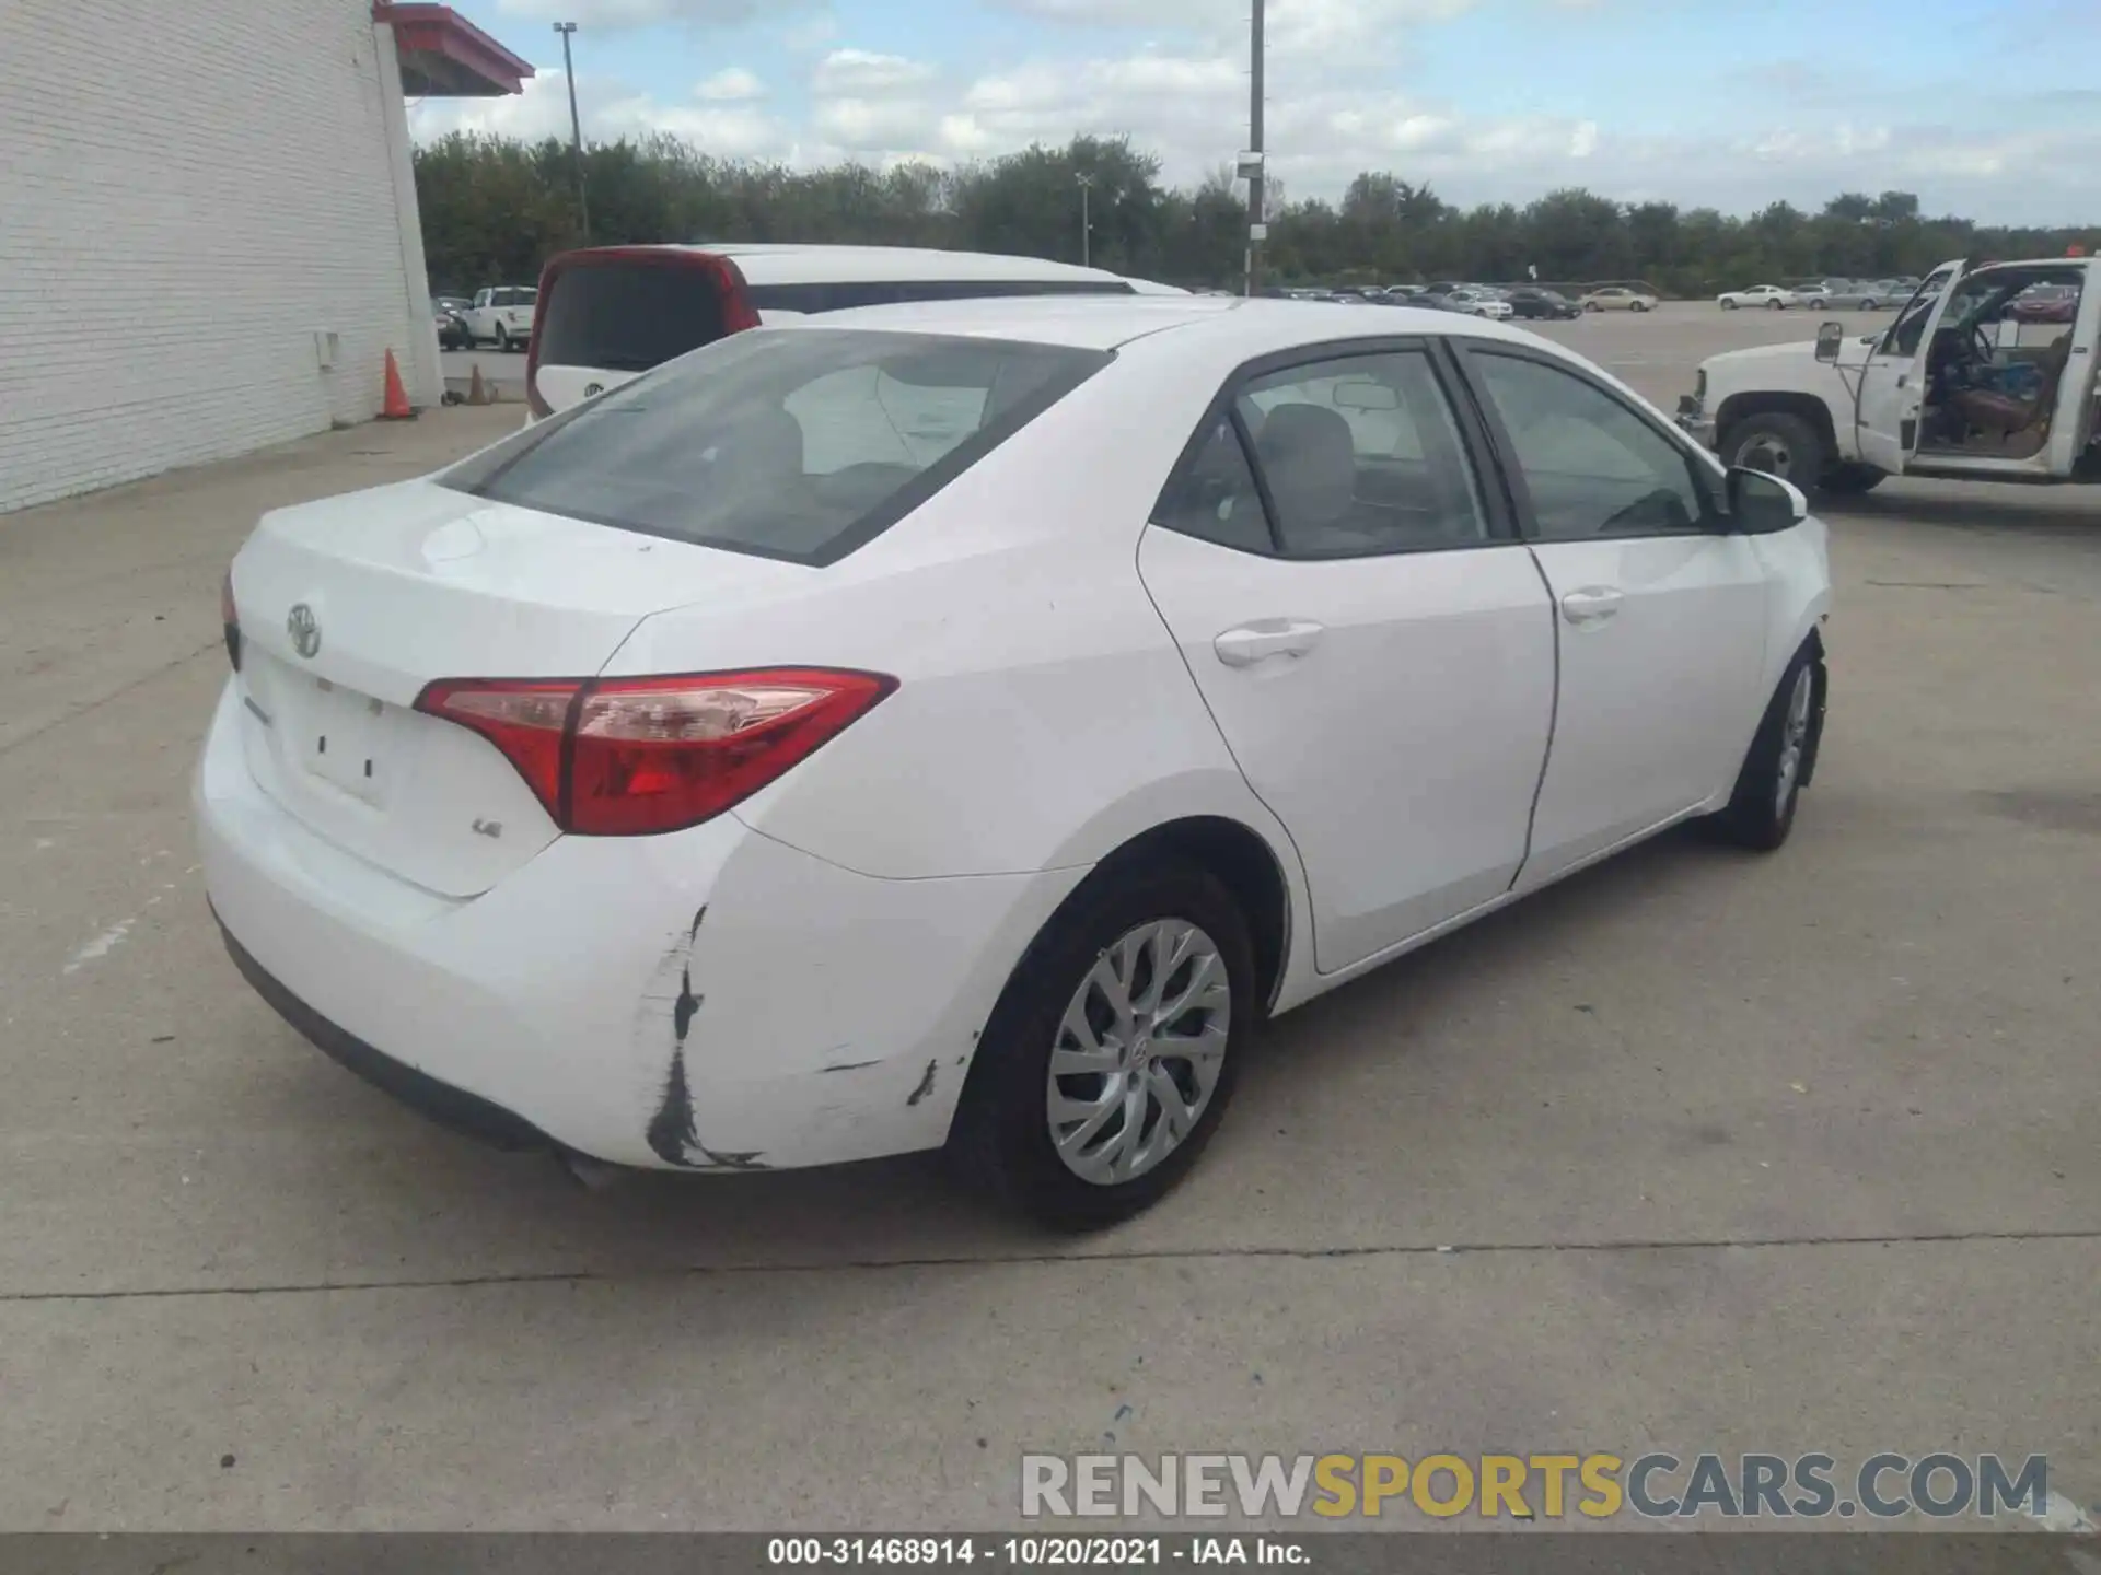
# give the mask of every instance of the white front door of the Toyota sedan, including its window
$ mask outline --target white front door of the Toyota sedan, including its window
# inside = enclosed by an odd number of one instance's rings
[[[1557,607],[1530,886],[1733,785],[1771,592],[1714,466],[1653,412],[1546,351],[1481,340],[1464,363]]]

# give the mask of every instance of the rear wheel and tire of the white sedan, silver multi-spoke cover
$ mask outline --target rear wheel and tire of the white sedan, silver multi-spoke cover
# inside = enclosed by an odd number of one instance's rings
[[[1053,1231],[1128,1220],[1210,1142],[1256,1014],[1254,947],[1231,892],[1181,861],[1109,865],[1006,983],[950,1159]]]

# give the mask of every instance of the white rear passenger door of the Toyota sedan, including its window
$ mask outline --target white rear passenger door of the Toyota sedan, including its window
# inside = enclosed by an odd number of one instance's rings
[[[1139,573],[1290,832],[1322,972],[1509,890],[1555,701],[1553,607],[1424,342],[1250,368]]]

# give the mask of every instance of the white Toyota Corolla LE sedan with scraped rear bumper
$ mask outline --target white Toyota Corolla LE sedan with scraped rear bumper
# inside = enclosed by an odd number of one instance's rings
[[[1801,494],[1483,319],[840,313],[267,514],[206,882],[448,1124],[1105,1224],[1263,1018],[1672,823],[1777,846],[1828,598]]]

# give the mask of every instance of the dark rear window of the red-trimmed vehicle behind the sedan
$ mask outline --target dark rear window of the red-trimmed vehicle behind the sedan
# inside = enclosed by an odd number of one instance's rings
[[[723,296],[702,269],[576,265],[555,279],[538,334],[542,365],[647,372],[723,338]]]

